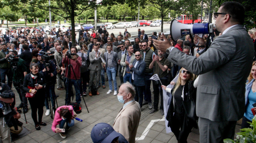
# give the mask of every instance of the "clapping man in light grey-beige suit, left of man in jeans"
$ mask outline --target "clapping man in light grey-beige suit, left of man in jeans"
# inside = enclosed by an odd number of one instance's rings
[[[93,85],[93,80],[96,74],[96,88],[98,89],[99,87],[99,81],[100,81],[100,77],[101,77],[101,69],[103,68],[101,63],[102,60],[101,58],[103,58],[103,54],[101,52],[98,51],[99,47],[98,45],[93,45],[93,52],[90,52],[89,54],[89,58],[90,58],[90,66],[88,67],[88,69],[90,70],[90,82],[89,82],[89,96],[93,96],[93,94],[91,94],[91,85]],[[97,95],[99,95],[99,92],[97,90]]]

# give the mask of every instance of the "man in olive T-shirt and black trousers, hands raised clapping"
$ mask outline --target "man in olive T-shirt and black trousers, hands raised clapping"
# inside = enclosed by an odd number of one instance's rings
[[[170,65],[170,62],[163,57],[164,52],[161,50],[157,51],[158,55],[153,56],[153,61],[149,65],[149,69],[154,68],[154,74],[157,74],[160,78],[160,81],[163,85],[167,85],[168,82],[168,66]],[[164,115],[163,113],[163,90],[161,88],[161,83],[153,80],[153,89],[154,89],[154,108],[149,113],[157,112],[158,110],[158,103],[159,103],[159,92],[161,95],[161,104],[160,104],[160,111],[161,115]]]

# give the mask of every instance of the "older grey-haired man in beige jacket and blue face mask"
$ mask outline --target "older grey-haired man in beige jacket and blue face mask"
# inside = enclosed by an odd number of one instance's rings
[[[135,143],[141,115],[140,105],[134,100],[135,94],[134,87],[129,82],[120,86],[117,99],[124,105],[113,124],[114,130],[122,134],[129,143]]]

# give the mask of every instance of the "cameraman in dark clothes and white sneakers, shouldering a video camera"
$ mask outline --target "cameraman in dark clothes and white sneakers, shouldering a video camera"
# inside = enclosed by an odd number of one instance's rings
[[[56,82],[57,70],[56,70],[56,66],[51,60],[51,59],[54,59],[54,56],[49,56],[49,53],[39,52],[37,54],[37,59],[38,59],[37,65],[39,66],[39,72],[44,73],[44,77],[46,81],[45,116],[49,116],[50,108],[49,108],[48,98],[50,98],[50,101],[52,103],[53,111],[54,112],[56,111],[54,86]]]

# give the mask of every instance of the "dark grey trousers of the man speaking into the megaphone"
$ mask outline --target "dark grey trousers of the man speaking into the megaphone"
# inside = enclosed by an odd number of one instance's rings
[[[199,117],[200,143],[223,143],[223,139],[234,139],[237,121],[211,121]]]

